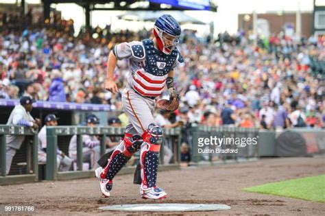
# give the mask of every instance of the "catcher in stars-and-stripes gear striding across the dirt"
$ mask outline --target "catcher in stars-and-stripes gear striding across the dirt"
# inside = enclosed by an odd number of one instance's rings
[[[156,186],[163,130],[154,123],[152,111],[156,97],[163,93],[165,86],[169,91],[169,100],[158,101],[156,106],[170,111],[178,108],[179,97],[173,88],[173,68],[183,62],[176,48],[181,30],[178,22],[165,14],[156,20],[153,31],[154,38],[118,44],[108,56],[106,89],[112,93],[119,91],[113,81],[117,60],[130,60],[128,84],[122,93],[123,109],[129,123],[123,141],[111,152],[107,163],[101,163],[102,167],[95,171],[105,197],[110,196],[113,178],[138,150],[141,151],[141,196],[145,199],[167,197],[167,193]],[[107,158],[108,155],[103,157]]]

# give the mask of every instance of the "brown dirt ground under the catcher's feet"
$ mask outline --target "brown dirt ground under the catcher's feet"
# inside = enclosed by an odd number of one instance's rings
[[[95,178],[2,186],[0,206],[35,206],[35,213],[41,214],[112,215],[117,213],[98,208],[111,204],[203,203],[232,207],[228,211],[205,212],[204,215],[325,215],[324,203],[241,191],[257,184],[324,173],[324,156],[261,159],[241,164],[186,167],[180,171],[161,172],[158,174],[158,186],[163,187],[169,195],[161,201],[141,199],[139,187],[132,184],[133,175],[125,175],[115,178],[112,196],[106,199],[101,198]],[[193,214],[202,213],[178,213]]]

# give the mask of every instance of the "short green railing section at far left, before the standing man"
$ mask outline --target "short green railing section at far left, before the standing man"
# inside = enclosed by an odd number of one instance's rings
[[[32,138],[32,144],[26,143],[26,174],[7,176],[6,167],[6,135],[29,136]],[[16,184],[21,182],[34,182],[38,180],[38,136],[30,128],[21,126],[0,125],[0,185]]]

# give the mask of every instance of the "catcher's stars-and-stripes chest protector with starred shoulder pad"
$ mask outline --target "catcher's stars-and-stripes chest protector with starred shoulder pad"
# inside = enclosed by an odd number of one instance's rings
[[[152,39],[143,40],[143,45],[134,45],[132,54],[135,58],[145,60],[145,66],[133,75],[133,88],[143,96],[156,97],[163,93],[166,78],[177,60],[178,50],[170,55],[158,51]]]

